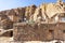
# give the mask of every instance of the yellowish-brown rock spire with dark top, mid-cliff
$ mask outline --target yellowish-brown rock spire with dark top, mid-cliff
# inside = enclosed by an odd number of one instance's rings
[[[36,5],[30,5],[30,6],[26,8],[25,16],[28,20],[30,19],[31,16],[34,17],[34,13],[35,13],[36,9],[37,9]]]

